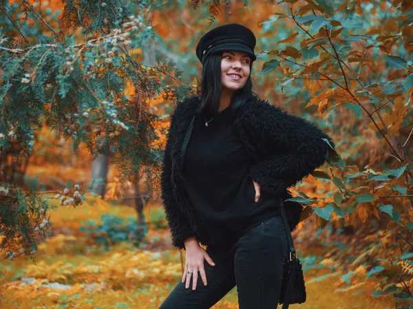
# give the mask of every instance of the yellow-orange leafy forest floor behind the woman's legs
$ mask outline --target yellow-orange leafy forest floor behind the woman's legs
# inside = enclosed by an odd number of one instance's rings
[[[0,262],[0,308],[159,308],[181,278],[180,252],[171,246],[165,225],[149,225],[140,248],[129,242],[103,248],[79,227],[103,214],[135,218],[131,207],[94,205],[50,211],[53,236],[39,245],[34,261]],[[145,209],[148,222],[165,218],[160,205]],[[307,301],[302,309],[393,308],[390,297],[372,297],[373,278],[365,271],[343,279],[346,269],[331,268],[322,249],[296,246],[304,265]],[[184,253],[183,253],[184,256]],[[213,309],[238,308],[233,288]],[[281,308],[281,305],[278,306]],[[179,309],[179,308],[177,308]]]

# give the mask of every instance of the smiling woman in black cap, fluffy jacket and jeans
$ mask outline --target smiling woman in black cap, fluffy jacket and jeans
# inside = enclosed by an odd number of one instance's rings
[[[335,146],[310,122],[252,92],[254,48],[253,32],[238,24],[202,36],[202,94],[179,102],[171,116],[162,199],[186,264],[162,309],[211,308],[234,286],[241,309],[277,308],[286,233],[302,209],[284,203],[286,228],[279,198],[326,161],[328,142]]]

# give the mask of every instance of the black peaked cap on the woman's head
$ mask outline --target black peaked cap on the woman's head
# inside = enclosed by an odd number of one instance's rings
[[[247,53],[253,62],[257,59],[254,54],[255,43],[251,30],[237,23],[229,23],[204,34],[196,47],[196,56],[203,65],[209,54],[235,50]]]

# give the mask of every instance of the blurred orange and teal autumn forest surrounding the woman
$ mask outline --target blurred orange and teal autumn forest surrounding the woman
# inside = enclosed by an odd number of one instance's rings
[[[158,308],[179,282],[159,194],[195,46],[257,37],[255,92],[337,153],[290,188],[308,299],[413,308],[410,0],[0,0],[0,308]],[[238,308],[236,288],[213,308]]]

